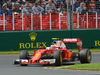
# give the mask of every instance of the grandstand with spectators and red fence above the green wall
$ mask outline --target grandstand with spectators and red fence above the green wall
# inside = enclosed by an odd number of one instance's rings
[[[0,1],[0,31],[100,29],[100,0]]]

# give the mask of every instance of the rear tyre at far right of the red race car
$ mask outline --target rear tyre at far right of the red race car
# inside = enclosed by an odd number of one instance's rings
[[[89,49],[82,49],[79,54],[79,59],[81,63],[90,63],[92,56]]]

